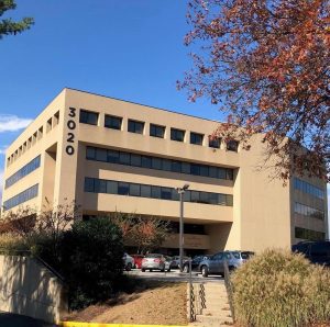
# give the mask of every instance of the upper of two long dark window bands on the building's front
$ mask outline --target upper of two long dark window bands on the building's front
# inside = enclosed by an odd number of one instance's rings
[[[86,148],[86,159],[218,179],[233,179],[233,170],[229,168],[141,156],[127,151],[117,151],[90,146]]]

